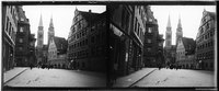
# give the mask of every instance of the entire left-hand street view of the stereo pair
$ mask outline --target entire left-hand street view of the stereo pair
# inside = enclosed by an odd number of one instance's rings
[[[2,5],[3,87],[106,87],[106,5]]]

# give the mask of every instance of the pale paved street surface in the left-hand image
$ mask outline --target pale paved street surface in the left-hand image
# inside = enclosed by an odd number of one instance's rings
[[[105,75],[80,70],[38,69],[25,70],[5,86],[10,87],[105,87]]]

